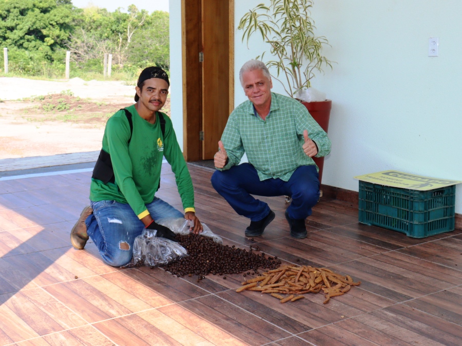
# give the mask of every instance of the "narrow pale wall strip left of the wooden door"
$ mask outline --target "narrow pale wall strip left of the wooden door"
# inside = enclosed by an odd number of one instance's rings
[[[169,0],[170,116],[183,150],[183,75],[181,61],[181,0]]]

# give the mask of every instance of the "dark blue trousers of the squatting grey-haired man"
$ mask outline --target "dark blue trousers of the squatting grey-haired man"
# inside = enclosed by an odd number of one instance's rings
[[[233,166],[226,171],[215,171],[211,177],[215,190],[226,199],[239,215],[259,221],[269,213],[267,203],[258,196],[291,196],[287,213],[292,219],[305,219],[319,200],[319,174],[316,166],[300,166],[288,181],[279,178],[260,181],[251,164]]]

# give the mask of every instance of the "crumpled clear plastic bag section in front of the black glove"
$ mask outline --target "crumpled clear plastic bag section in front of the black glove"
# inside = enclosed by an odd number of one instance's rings
[[[187,256],[187,251],[179,243],[166,238],[156,237],[156,230],[143,230],[133,242],[133,257],[122,268],[138,266],[164,266]]]

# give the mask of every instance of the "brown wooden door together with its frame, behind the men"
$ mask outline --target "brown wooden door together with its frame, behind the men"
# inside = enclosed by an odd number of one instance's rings
[[[211,159],[234,107],[234,1],[183,0],[182,36],[183,154]]]

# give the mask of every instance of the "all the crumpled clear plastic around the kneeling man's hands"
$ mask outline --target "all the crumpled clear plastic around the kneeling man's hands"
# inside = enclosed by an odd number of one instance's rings
[[[190,228],[194,227],[194,222],[185,220],[184,218],[163,218],[156,220],[156,222],[180,235],[189,234]],[[223,240],[210,231],[204,223],[202,223],[202,228],[203,231],[200,233],[201,235],[210,237],[220,244],[223,243]],[[122,268],[165,266],[165,264],[188,255],[186,249],[178,242],[157,237],[156,234],[156,230],[143,230],[143,233],[134,239],[133,257],[131,261]]]

